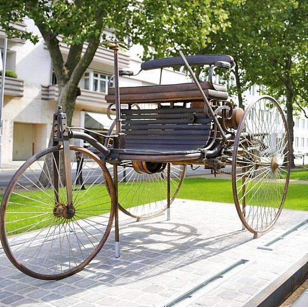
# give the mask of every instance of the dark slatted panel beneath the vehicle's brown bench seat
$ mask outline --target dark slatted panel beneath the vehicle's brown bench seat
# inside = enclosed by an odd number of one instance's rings
[[[121,113],[127,149],[191,151],[205,147],[209,140],[211,120],[203,108],[123,109]]]

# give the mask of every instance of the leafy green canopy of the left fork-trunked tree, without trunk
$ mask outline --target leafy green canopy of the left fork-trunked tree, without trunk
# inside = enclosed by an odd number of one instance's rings
[[[121,27],[121,22],[130,16],[130,4],[130,0],[2,0],[0,25],[6,30],[8,38],[20,37],[37,43],[37,35],[20,32],[14,27],[13,23],[27,16],[40,25],[40,30],[44,29],[53,36],[60,35],[66,43],[74,45],[99,37],[102,29],[113,28],[118,22]],[[104,27],[97,27],[98,19]]]

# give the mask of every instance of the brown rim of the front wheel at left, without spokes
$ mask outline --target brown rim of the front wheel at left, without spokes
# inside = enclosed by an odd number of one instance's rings
[[[72,274],[75,274],[79,271],[81,271],[87,264],[89,264],[89,262],[95,257],[95,255],[100,251],[100,249],[102,248],[102,246],[105,244],[108,235],[111,231],[112,228],[112,224],[113,224],[113,218],[114,218],[114,213],[115,213],[115,192],[114,192],[114,185],[113,185],[113,181],[112,178],[110,176],[110,173],[108,171],[108,169],[105,167],[104,164],[102,164],[99,160],[99,158],[92,154],[91,151],[85,149],[85,148],[81,148],[78,146],[73,146],[70,145],[70,149],[71,150],[75,150],[75,151],[79,151],[79,152],[83,152],[84,154],[86,154],[88,157],[90,157],[91,159],[94,160],[95,163],[97,163],[100,167],[100,169],[104,172],[104,178],[106,178],[106,180],[108,181],[108,186],[110,189],[110,198],[111,198],[111,204],[110,204],[110,214],[109,214],[109,218],[108,218],[108,223],[106,225],[106,231],[105,234],[102,236],[101,240],[99,241],[99,243],[97,244],[96,248],[93,249],[92,253],[88,255],[88,257],[86,259],[83,259],[83,261],[76,265],[73,269],[61,272],[61,273],[56,273],[56,274],[43,274],[43,273],[39,273],[39,272],[35,272],[29,268],[27,268],[24,264],[22,264],[14,255],[12,249],[11,249],[11,245],[8,241],[8,236],[6,234],[6,222],[5,222],[5,218],[6,218],[6,210],[7,210],[7,206],[8,206],[8,202],[10,199],[10,196],[12,194],[13,189],[15,188],[17,181],[19,180],[19,178],[22,176],[23,172],[25,170],[28,169],[28,167],[30,167],[35,161],[37,161],[38,159],[40,159],[41,157],[44,157],[47,154],[51,154],[52,152],[56,152],[58,150],[61,150],[62,146],[54,146],[54,147],[49,147],[45,150],[42,150],[40,152],[38,152],[38,154],[34,155],[33,157],[31,157],[30,159],[28,159],[18,170],[17,172],[14,174],[12,180],[10,181],[4,196],[3,196],[3,202],[2,202],[2,206],[1,206],[1,218],[0,218],[0,229],[1,229],[1,242],[4,248],[5,253],[7,254],[7,257],[9,258],[9,260],[12,262],[12,264],[19,269],[20,271],[22,271],[23,273],[32,276],[34,278],[39,278],[39,279],[45,279],[45,280],[53,280],[53,279],[61,279],[67,276],[70,276]],[[105,186],[105,185],[104,185]],[[52,224],[53,226],[53,224]],[[52,227],[50,226],[50,227]],[[55,226],[56,228],[56,226]],[[59,227],[60,228],[60,227]],[[62,227],[61,227],[62,228]],[[40,233],[41,231],[39,231]],[[46,241],[47,242],[47,241]],[[45,241],[43,242],[43,244],[45,243]],[[93,243],[92,243],[93,244]],[[93,245],[94,246],[94,245]],[[52,246],[53,247],[53,246]],[[29,248],[29,246],[28,246]],[[17,250],[17,249],[16,249]],[[39,250],[40,251],[40,250]],[[37,256],[38,257],[38,256]],[[27,265],[27,263],[26,263]],[[57,267],[56,267],[57,268]],[[48,268],[47,268],[48,269]],[[61,267],[62,270],[62,267]]]

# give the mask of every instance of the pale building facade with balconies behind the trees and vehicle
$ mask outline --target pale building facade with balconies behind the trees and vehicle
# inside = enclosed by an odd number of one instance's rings
[[[21,31],[29,31],[41,37],[32,20],[16,24]],[[107,33],[108,34],[108,33]],[[112,34],[112,33],[110,33]],[[3,53],[5,33],[0,30],[0,48]],[[86,48],[86,45],[84,46]],[[61,42],[61,53],[66,59],[69,48]],[[133,46],[119,54],[119,68],[140,70],[138,54],[142,49]],[[3,162],[26,160],[48,145],[52,130],[53,114],[56,111],[58,86],[53,64],[46,44],[40,38],[34,45],[30,41],[11,39],[8,41],[6,69],[14,70],[18,77],[6,77],[3,107]],[[94,131],[106,131],[111,120],[106,115],[105,100],[108,84],[112,85],[113,52],[99,47],[92,63],[80,82],[81,96],[76,98],[72,125]],[[160,70],[142,71],[136,76],[120,77],[120,86],[142,86],[159,84]],[[165,68],[162,84],[187,82],[185,73]],[[256,88],[246,93],[247,101],[260,95]],[[79,142],[83,145],[83,141]],[[295,117],[295,150],[308,152],[308,119]]]

